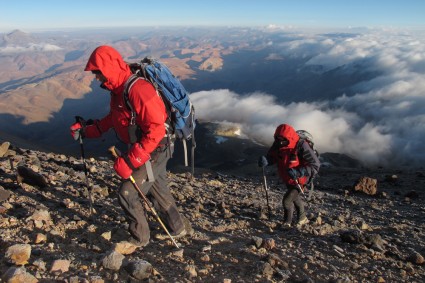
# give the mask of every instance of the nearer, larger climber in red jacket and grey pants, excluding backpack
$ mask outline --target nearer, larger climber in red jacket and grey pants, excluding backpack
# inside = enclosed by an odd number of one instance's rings
[[[149,225],[144,213],[143,200],[129,180],[133,176],[142,192],[159,205],[161,215],[171,228],[175,238],[184,236],[186,230],[175,200],[167,187],[167,161],[173,146],[166,135],[167,112],[161,97],[151,83],[136,80],[128,98],[136,113],[135,126],[131,125],[131,110],[124,100],[124,90],[131,70],[117,50],[100,46],[91,54],[85,71],[91,71],[101,82],[101,87],[110,91],[108,115],[91,123],[77,122],[71,126],[71,134],[97,138],[114,129],[118,138],[128,145],[128,151],[114,163],[116,173],[123,179],[119,190],[119,203],[129,221],[131,242],[146,246],[150,239]],[[134,137],[136,139],[134,140]],[[154,181],[147,180],[149,163],[152,164]]]

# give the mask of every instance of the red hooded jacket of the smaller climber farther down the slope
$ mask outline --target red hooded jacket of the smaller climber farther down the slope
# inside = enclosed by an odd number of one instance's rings
[[[271,161],[271,164],[277,163],[277,168],[279,176],[283,182],[290,185],[296,185],[295,181],[291,179],[288,174],[289,168],[299,168],[299,167],[309,167],[311,164],[308,164],[305,160],[299,159],[297,152],[297,143],[300,139],[293,127],[287,124],[279,125],[276,128],[274,137],[283,137],[288,139],[288,146],[278,148],[272,146],[268,153],[267,157]],[[298,182],[301,185],[304,185],[308,181],[308,176],[300,177]]]

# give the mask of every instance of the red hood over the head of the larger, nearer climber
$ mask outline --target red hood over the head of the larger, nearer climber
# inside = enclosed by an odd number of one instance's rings
[[[130,68],[117,50],[110,46],[99,46],[90,55],[84,71],[100,70],[107,81],[104,86],[114,93],[121,93],[124,83],[131,76]]]

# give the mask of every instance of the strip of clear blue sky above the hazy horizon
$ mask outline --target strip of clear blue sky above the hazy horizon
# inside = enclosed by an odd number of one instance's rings
[[[7,0],[0,32],[111,26],[425,28],[425,0]]]

